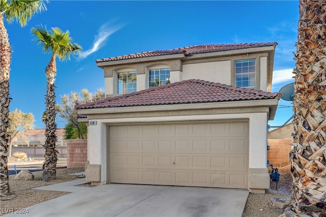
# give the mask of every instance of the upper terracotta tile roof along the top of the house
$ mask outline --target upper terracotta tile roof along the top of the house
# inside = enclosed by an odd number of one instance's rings
[[[136,58],[145,58],[145,57],[155,57],[155,56],[165,56],[165,55],[175,55],[184,53],[185,55],[194,55],[198,53],[209,53],[209,52],[219,52],[219,51],[228,51],[228,50],[239,50],[247,48],[257,48],[257,47],[269,47],[276,46],[277,42],[266,42],[266,43],[242,43],[242,44],[202,44],[194,45],[188,47],[181,47],[171,50],[156,50],[156,51],[147,51],[141,53],[134,53],[130,55],[104,58],[96,60],[96,63],[101,62],[111,62],[119,60],[128,60]]]

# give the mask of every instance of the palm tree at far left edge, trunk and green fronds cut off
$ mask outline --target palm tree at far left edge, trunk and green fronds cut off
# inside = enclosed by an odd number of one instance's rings
[[[18,0],[0,0],[0,196],[10,195],[9,177],[8,177],[8,147],[10,135],[8,133],[9,124],[9,74],[11,63],[11,46],[9,37],[5,28],[4,19],[9,23],[16,20],[21,26],[27,24],[32,16],[43,10],[46,10],[47,1],[18,1]]]

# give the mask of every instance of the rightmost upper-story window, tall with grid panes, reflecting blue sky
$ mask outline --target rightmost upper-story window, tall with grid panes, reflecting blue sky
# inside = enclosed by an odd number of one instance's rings
[[[235,86],[256,87],[256,60],[235,61]]]

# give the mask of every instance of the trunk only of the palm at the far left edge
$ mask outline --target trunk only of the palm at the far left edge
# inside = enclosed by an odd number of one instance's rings
[[[4,25],[4,18],[0,13],[0,109],[1,109],[1,146],[0,146],[0,196],[10,195],[8,176],[8,147],[10,134],[9,124],[9,73],[11,63],[11,46],[7,30]]]

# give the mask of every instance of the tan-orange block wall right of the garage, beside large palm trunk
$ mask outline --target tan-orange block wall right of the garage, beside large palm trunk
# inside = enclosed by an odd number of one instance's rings
[[[291,139],[269,139],[267,144],[270,147],[267,151],[267,159],[269,164],[274,167],[284,167],[289,165],[289,153],[291,151]]]

